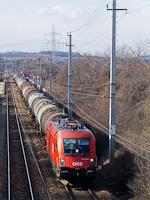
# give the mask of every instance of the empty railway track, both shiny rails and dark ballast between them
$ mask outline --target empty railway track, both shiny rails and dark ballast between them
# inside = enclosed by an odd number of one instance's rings
[[[8,199],[32,199],[33,189],[17,109],[9,82],[7,91]],[[8,95],[11,93],[11,95]]]

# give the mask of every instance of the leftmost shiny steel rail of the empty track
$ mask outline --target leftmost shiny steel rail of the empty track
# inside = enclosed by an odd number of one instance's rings
[[[10,200],[10,146],[9,146],[9,107],[8,107],[8,84],[6,82],[6,101],[7,101],[7,173],[8,173],[8,200]]]

